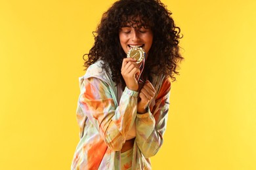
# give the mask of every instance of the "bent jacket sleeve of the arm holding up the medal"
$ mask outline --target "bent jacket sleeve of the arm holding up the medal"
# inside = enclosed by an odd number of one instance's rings
[[[116,107],[110,86],[99,78],[83,79],[77,120],[89,118],[106,145],[112,150],[121,150],[125,137],[135,122],[138,92],[125,88]],[[79,122],[80,128],[83,122]]]

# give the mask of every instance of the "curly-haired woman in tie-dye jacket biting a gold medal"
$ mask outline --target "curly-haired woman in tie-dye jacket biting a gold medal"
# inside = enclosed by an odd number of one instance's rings
[[[163,143],[180,29],[158,0],[119,0],[102,16],[85,59],[72,169],[151,169]],[[131,48],[145,54],[127,58]]]

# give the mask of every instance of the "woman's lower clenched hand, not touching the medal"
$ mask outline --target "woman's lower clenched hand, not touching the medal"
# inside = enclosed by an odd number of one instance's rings
[[[140,101],[137,105],[137,112],[140,114],[146,113],[146,107],[148,103],[152,101],[156,90],[150,81],[146,80],[145,84],[142,86],[142,89],[139,92]]]

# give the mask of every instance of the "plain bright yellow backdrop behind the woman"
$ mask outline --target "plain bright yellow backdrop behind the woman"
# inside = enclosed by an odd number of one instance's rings
[[[0,169],[70,169],[82,56],[114,0],[0,0]],[[256,1],[163,1],[181,27],[154,169],[256,169]]]

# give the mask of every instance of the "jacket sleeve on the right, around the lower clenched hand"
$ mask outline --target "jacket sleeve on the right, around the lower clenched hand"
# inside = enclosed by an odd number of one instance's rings
[[[169,110],[170,90],[171,83],[166,78],[163,80],[152,112],[148,109],[145,114],[137,114],[135,120],[137,129],[136,143],[145,158],[154,156],[160,149],[161,144],[163,144],[163,133],[166,129]]]

